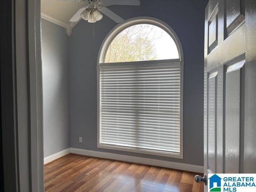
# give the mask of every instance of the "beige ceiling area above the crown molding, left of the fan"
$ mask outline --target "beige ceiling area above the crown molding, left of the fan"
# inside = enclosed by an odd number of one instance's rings
[[[69,24],[72,16],[85,2],[70,2],[67,0],[41,0],[41,11]]]

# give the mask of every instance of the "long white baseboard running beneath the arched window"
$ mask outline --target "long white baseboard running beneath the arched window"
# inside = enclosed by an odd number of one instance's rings
[[[128,156],[128,155],[98,152],[98,151],[84,150],[84,149],[78,149],[78,148],[70,148],[70,153],[98,157],[98,158],[114,159],[114,160],[120,160],[120,161],[126,161],[126,162],[138,163],[138,164],[147,164],[152,166],[166,167],[171,169],[184,170],[184,171],[197,172],[197,173],[204,172],[203,166],[163,161],[163,160],[150,159],[150,158],[134,157],[134,156]]]

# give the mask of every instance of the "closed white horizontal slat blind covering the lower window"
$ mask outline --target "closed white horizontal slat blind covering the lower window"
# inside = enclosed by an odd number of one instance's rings
[[[180,154],[180,62],[100,64],[99,144]]]

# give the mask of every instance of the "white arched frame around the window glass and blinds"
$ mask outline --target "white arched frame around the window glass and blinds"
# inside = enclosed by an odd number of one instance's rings
[[[177,59],[169,59],[169,60],[150,60],[150,61],[138,61],[138,62],[145,62],[146,64],[154,64],[159,62],[167,62],[172,64],[179,64],[180,65],[180,153],[172,153],[172,152],[160,152],[160,151],[154,151],[154,150],[146,150],[146,149],[135,149],[135,148],[129,148],[125,146],[110,146],[106,144],[100,144],[100,94],[101,94],[101,88],[100,88],[100,65],[104,63],[106,52],[108,50],[109,45],[111,44],[112,40],[120,33],[122,30],[136,25],[136,24],[151,24],[154,26],[158,26],[162,28],[164,31],[166,31],[174,40],[177,49],[179,58]],[[122,63],[122,62],[121,62]],[[130,62],[136,64],[136,62]],[[113,64],[113,63],[106,63],[106,64]],[[115,65],[118,65],[120,63],[114,63]],[[126,151],[126,152],[135,152],[135,153],[141,153],[141,154],[150,154],[150,155],[156,155],[156,156],[166,156],[171,158],[179,158],[183,159],[183,73],[184,73],[184,58],[183,58],[183,50],[181,42],[175,33],[175,31],[165,22],[158,20],[156,18],[152,17],[136,17],[128,19],[117,26],[115,26],[108,35],[104,38],[100,50],[98,52],[98,60],[97,60],[97,148],[103,148],[103,149],[110,149],[110,150],[120,150],[120,151]]]

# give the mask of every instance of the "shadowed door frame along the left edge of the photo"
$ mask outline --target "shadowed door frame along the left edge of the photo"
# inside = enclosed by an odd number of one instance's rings
[[[40,9],[0,2],[4,191],[44,191]]]

